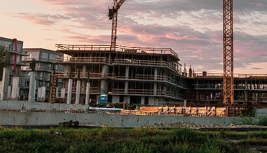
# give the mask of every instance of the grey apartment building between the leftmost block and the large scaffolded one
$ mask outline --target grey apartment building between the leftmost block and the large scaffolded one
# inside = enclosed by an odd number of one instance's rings
[[[26,57],[22,58],[21,79],[19,80],[21,100],[48,102],[50,74],[53,69],[55,57],[62,57],[63,53],[44,48],[24,48]],[[63,71],[63,66],[54,67],[56,71]],[[31,91],[31,92],[29,92]],[[31,98],[28,98],[28,95]]]

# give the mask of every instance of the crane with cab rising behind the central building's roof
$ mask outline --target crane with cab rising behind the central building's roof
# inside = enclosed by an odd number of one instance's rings
[[[118,10],[121,8],[121,5],[126,0],[114,0],[113,6],[108,8],[108,17],[112,19],[112,34],[111,34],[111,45],[110,50],[115,51],[116,48],[116,39],[117,39],[117,21],[118,21]]]

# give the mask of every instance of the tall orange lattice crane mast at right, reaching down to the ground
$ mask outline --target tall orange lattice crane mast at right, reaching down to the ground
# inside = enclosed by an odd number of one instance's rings
[[[223,0],[223,103],[234,103],[233,0]]]

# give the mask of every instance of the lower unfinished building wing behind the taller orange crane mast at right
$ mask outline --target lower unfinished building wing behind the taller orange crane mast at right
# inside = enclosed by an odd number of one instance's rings
[[[187,77],[187,102],[223,104],[223,75],[197,74]],[[234,75],[234,104],[266,105],[267,75]]]

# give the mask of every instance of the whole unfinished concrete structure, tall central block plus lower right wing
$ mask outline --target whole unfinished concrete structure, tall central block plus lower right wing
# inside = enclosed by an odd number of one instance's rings
[[[178,55],[170,48],[137,48],[109,45],[57,45],[64,57],[55,63],[56,97],[67,104],[107,102],[140,105],[223,105],[223,74],[181,71]],[[234,104],[264,105],[266,75],[235,75]],[[91,100],[89,100],[91,99]]]

